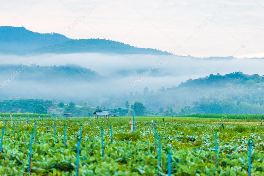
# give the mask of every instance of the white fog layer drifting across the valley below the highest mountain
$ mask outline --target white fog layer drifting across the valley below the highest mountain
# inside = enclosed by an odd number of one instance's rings
[[[264,60],[257,58],[195,58],[176,55],[110,55],[104,53],[77,53],[77,54],[44,54],[37,56],[1,55],[0,61],[8,64],[27,64],[21,71],[27,75],[14,76],[8,85],[3,86],[1,99],[11,98],[42,98],[56,101],[81,102],[91,100],[89,104],[102,105],[105,99],[119,99],[129,92],[143,92],[145,87],[156,91],[161,87],[177,86],[188,79],[209,76],[209,74],[227,74],[242,71],[245,74],[264,74]],[[78,71],[76,77],[65,75],[37,75],[36,72],[26,72],[32,65],[79,65],[97,72],[100,76],[89,79],[82,77]],[[10,73],[9,73],[10,71]],[[9,70],[0,75],[0,82],[5,82],[12,74]],[[14,72],[16,69],[14,69]],[[62,73],[64,74],[64,73]],[[103,103],[104,105],[107,102]],[[110,102],[111,104],[111,102]],[[121,105],[118,105],[121,106]]]

